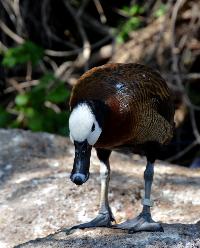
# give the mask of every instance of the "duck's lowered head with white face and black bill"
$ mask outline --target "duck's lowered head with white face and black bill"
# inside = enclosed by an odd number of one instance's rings
[[[85,183],[89,178],[91,149],[102,132],[97,119],[95,109],[86,102],[76,105],[70,114],[70,139],[75,146],[70,179],[77,185]]]

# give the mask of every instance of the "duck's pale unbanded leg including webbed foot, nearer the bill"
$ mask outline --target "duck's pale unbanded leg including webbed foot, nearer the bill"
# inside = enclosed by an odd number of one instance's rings
[[[100,209],[97,217],[90,222],[73,226],[73,229],[84,229],[90,227],[110,227],[114,217],[112,215],[109,203],[108,203],[108,186],[110,180],[110,164],[109,157],[110,150],[96,149],[97,156],[100,160],[100,177],[101,177],[101,196],[100,196]]]

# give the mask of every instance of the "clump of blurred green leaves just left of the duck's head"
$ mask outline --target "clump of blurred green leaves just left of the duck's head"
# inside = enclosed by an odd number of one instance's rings
[[[0,126],[3,122],[2,125],[5,123],[5,126],[11,128],[26,128],[32,131],[46,131],[66,136],[68,134],[67,118],[69,112],[64,110],[58,113],[47,107],[45,102],[50,101],[62,109],[69,94],[63,81],[56,79],[52,73],[47,73],[40,79],[38,85],[15,97],[13,110],[18,116],[22,114],[23,118],[17,118],[15,115],[8,116],[5,111],[2,114],[0,109]],[[4,116],[6,119],[2,118]]]

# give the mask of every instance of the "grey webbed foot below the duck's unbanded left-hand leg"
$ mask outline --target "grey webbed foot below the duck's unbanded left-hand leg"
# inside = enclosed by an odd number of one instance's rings
[[[112,216],[112,213],[110,212],[100,212],[97,217],[89,222],[75,225],[66,231],[66,234],[70,234],[75,229],[84,229],[84,228],[94,228],[94,227],[111,227],[112,222],[115,221],[115,219]]]

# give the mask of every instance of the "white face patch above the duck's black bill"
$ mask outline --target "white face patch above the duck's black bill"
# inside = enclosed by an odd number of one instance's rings
[[[72,142],[87,140],[90,145],[97,142],[102,132],[95,115],[86,103],[81,103],[73,109],[69,118],[69,130]]]

